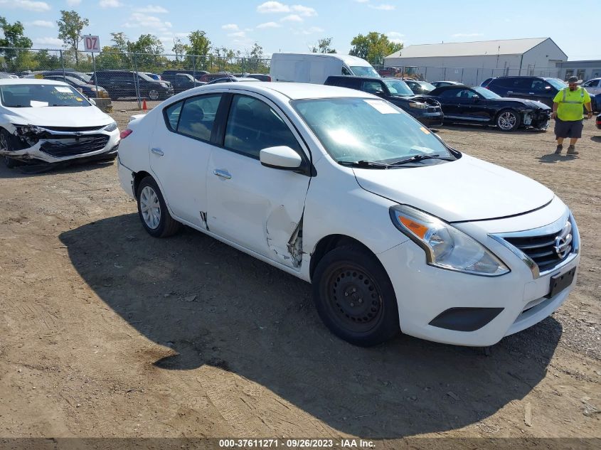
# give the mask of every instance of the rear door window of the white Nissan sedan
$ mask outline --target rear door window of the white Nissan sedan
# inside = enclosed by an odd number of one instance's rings
[[[203,141],[210,140],[220,100],[220,94],[186,99],[179,113],[177,132]]]

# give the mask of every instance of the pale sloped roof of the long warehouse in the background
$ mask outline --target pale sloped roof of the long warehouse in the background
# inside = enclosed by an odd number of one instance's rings
[[[504,39],[501,41],[452,42],[408,45],[387,58],[428,58],[433,56],[521,55],[550,38]]]

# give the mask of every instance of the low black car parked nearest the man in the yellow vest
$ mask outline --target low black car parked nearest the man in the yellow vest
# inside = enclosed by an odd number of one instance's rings
[[[486,87],[442,86],[430,95],[442,105],[445,122],[496,125],[513,132],[518,127],[547,129],[551,117],[551,108],[541,102],[500,97]]]

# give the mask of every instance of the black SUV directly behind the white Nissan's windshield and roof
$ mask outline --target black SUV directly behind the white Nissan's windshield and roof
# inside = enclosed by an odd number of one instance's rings
[[[444,116],[440,104],[436,100],[432,100],[431,97],[413,94],[405,82],[398,78],[332,75],[327,78],[324,84],[369,92],[400,107],[400,109],[408,112],[427,127],[442,125]]]

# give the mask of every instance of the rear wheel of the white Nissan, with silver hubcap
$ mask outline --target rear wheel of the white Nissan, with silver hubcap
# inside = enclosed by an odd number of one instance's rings
[[[142,226],[152,237],[169,237],[179,231],[181,223],[169,214],[159,186],[151,176],[144,178],[136,193]]]

